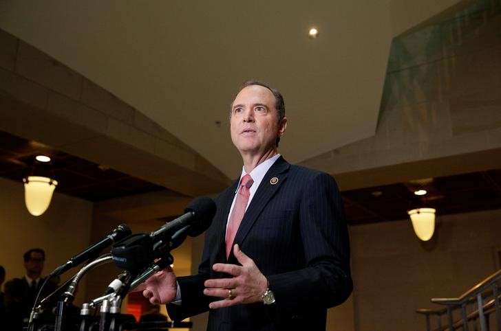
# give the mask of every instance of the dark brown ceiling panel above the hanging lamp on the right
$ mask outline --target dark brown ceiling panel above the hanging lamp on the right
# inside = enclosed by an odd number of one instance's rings
[[[415,190],[426,190],[416,196]],[[436,208],[436,214],[460,214],[501,209],[501,170],[470,172],[434,179],[367,187],[342,192],[350,225],[403,220],[407,210]]]

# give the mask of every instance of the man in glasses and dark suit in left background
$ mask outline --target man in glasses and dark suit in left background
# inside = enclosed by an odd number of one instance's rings
[[[22,278],[14,278],[6,282],[6,313],[8,317],[8,330],[22,330],[28,322],[36,295],[45,282],[41,277],[45,252],[43,249],[30,249],[23,255],[26,273]],[[41,298],[56,289],[54,282],[47,282],[41,293]]]

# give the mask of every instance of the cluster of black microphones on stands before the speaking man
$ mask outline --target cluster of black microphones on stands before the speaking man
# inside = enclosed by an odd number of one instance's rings
[[[127,315],[121,315],[122,299],[130,290],[171,265],[173,263],[171,251],[179,247],[187,236],[199,236],[208,229],[215,211],[215,203],[211,198],[200,197],[195,198],[184,209],[182,216],[166,222],[151,233],[132,234],[126,224],[118,225],[103,240],[87,247],[52,271],[47,280],[83,264],[73,277],[70,277],[53,293],[43,299],[36,298],[28,331],[45,330],[47,320],[41,318],[41,313],[54,305],[56,308],[53,323],[48,327],[55,331],[128,330],[127,325],[136,330],[153,327],[147,324],[142,326]],[[110,246],[108,253],[102,253]],[[101,297],[83,304],[78,319],[70,317],[68,310],[74,300],[78,282],[88,271],[108,263],[114,263],[122,273],[111,281]],[[95,313],[98,310],[100,314],[96,317]]]

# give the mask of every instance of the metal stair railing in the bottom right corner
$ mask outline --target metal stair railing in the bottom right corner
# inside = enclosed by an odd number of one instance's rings
[[[494,314],[497,328],[501,331],[500,293],[501,270],[482,280],[460,297],[434,298],[431,302],[445,306],[442,309],[418,309],[426,317],[427,331],[480,330],[490,331],[489,317]],[[432,318],[436,326],[431,328]]]

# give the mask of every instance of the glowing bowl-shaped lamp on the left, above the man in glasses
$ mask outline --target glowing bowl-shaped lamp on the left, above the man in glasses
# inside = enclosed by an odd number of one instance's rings
[[[38,157],[37,160],[39,160]],[[50,158],[48,158],[48,161],[42,162],[49,161]],[[34,167],[32,174],[23,178],[24,201],[30,214],[33,216],[40,216],[50,205],[57,181],[54,179],[54,173],[52,173],[52,178],[47,176],[34,176],[33,174]]]

